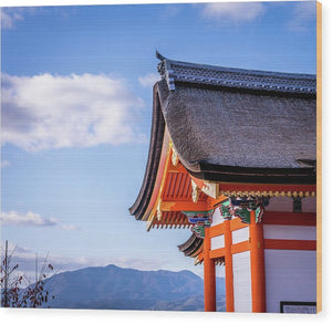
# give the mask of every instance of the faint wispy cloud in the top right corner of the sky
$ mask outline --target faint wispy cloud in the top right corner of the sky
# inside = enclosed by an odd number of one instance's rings
[[[291,31],[305,31],[315,19],[315,1],[300,1],[294,3],[293,18],[287,24]]]

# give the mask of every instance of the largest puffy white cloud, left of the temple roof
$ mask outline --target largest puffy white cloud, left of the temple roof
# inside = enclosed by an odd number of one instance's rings
[[[25,150],[145,140],[143,101],[108,75],[2,75],[2,144]]]

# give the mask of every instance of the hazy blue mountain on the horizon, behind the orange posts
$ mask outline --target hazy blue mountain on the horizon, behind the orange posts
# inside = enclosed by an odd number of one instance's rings
[[[224,278],[217,279],[218,310],[225,310]],[[45,307],[203,311],[204,283],[190,271],[139,271],[116,265],[85,268],[48,279],[54,300]]]

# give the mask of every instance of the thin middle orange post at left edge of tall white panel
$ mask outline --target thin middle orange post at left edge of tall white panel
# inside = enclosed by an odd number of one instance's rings
[[[234,312],[234,279],[230,220],[225,222],[226,312]]]

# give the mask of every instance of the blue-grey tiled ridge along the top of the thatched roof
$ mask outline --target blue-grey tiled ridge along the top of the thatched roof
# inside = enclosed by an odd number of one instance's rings
[[[230,88],[271,91],[279,93],[315,94],[314,74],[245,70],[169,60],[156,52],[160,60],[158,72],[168,90],[176,83],[200,84]]]

